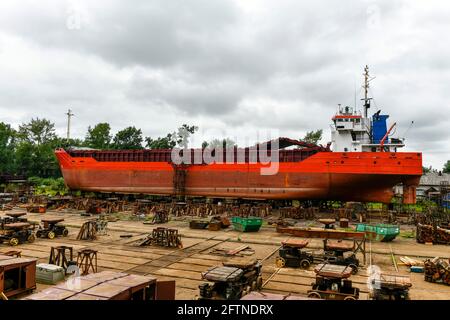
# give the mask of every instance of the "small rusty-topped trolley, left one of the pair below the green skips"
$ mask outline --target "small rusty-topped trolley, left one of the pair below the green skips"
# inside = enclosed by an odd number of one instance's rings
[[[279,256],[275,260],[278,268],[283,267],[301,267],[308,269],[314,261],[314,256],[310,252],[305,252],[305,248],[309,241],[300,239],[288,239],[283,241],[282,247],[278,251]]]

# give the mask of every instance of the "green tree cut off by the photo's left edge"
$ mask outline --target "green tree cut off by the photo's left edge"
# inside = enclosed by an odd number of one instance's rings
[[[15,173],[16,132],[9,124],[0,122],[0,173]]]

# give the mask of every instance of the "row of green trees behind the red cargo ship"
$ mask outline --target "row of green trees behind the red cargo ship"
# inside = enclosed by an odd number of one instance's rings
[[[162,137],[144,137],[142,130],[130,126],[112,134],[109,123],[89,126],[84,139],[66,139],[56,134],[55,124],[48,119],[33,118],[16,130],[10,124],[0,122],[0,174],[25,175],[27,177],[57,178],[61,176],[54,150],[57,148],[85,147],[92,149],[172,149],[186,147],[189,136],[198,130],[195,125],[183,124],[177,130]],[[309,131],[303,141],[317,144],[322,130]],[[204,141],[202,147],[232,147],[229,139]],[[447,171],[450,161],[447,163]],[[445,171],[444,171],[445,172]]]

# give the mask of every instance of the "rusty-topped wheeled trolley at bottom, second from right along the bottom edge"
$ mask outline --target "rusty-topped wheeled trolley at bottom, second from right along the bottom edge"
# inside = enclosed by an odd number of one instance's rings
[[[311,284],[312,290],[308,290],[308,297],[329,300],[359,299],[359,288],[353,288],[352,281],[348,279],[352,271],[348,266],[319,264],[314,269],[316,282]]]

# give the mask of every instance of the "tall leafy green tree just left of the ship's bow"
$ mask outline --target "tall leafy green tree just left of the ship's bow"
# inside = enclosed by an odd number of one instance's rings
[[[18,170],[29,176],[60,175],[54,149],[58,146],[55,125],[47,119],[32,119],[19,126],[16,159]]]

